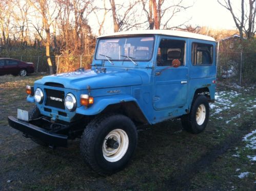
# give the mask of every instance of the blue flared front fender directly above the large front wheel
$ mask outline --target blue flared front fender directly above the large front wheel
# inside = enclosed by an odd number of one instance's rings
[[[96,115],[101,113],[108,105],[128,101],[134,101],[137,104],[137,100],[135,98],[126,94],[97,97],[94,98],[94,103],[90,107],[87,108],[85,106],[81,106],[76,109],[76,113],[82,115]]]

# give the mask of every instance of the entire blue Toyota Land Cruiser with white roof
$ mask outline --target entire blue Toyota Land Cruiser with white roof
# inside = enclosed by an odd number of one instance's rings
[[[9,125],[42,145],[67,146],[68,139],[81,138],[81,154],[95,172],[120,171],[134,153],[137,125],[181,117],[188,132],[206,128],[215,45],[212,37],[170,30],[100,36],[90,70],[27,86],[34,107],[9,116]]]

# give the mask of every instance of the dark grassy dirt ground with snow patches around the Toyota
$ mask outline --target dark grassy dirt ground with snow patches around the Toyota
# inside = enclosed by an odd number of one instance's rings
[[[79,140],[51,150],[8,126],[41,77],[0,76],[0,190],[256,190],[256,89],[218,87],[199,135],[180,119],[140,126],[130,164],[104,177],[83,162]]]

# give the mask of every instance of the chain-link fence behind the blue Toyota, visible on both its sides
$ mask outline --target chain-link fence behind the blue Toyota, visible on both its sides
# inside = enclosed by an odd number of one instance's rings
[[[220,84],[249,86],[256,83],[256,52],[219,52],[217,80]],[[49,74],[46,56],[12,56],[33,62],[35,72]],[[78,68],[89,69],[92,55],[51,56],[54,73],[72,72]]]

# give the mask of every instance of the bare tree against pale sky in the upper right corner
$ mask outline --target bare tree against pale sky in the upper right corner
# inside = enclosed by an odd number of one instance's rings
[[[245,32],[247,38],[252,38],[255,34],[255,14],[256,14],[256,1],[248,0],[249,11],[245,8],[247,4],[244,0],[241,0],[241,16],[235,14],[233,5],[230,0],[218,0],[218,3],[226,8],[232,15],[235,26],[238,28],[240,38],[243,39],[243,32]],[[249,12],[249,14],[248,14]]]

